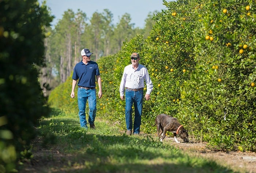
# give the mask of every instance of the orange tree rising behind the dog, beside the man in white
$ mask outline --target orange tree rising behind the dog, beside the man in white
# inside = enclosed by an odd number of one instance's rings
[[[180,86],[188,80],[195,66],[193,60],[194,41],[192,32],[197,27],[196,11],[200,11],[199,1],[166,2],[167,10],[153,17],[155,25],[147,42],[146,61],[154,90],[152,104],[144,103],[146,132],[155,131],[150,124],[158,114],[165,113],[176,117],[181,101]],[[180,119],[183,122],[183,119]]]

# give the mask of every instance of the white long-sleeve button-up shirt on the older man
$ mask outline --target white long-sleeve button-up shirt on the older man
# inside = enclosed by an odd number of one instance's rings
[[[146,94],[150,94],[153,90],[153,83],[147,68],[142,64],[139,64],[136,70],[132,67],[132,64],[124,67],[124,73],[119,87],[120,96],[124,96],[125,87],[130,89],[144,88],[144,80],[147,86]]]

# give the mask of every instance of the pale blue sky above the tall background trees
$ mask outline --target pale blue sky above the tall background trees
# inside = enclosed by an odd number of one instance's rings
[[[86,13],[88,19],[91,19],[94,12],[102,13],[103,9],[109,9],[113,14],[113,24],[117,24],[119,19],[128,13],[131,23],[139,28],[144,28],[149,12],[161,12],[166,9],[162,0],[46,0],[46,5],[50,8],[51,15],[55,16],[51,23],[53,27],[68,9],[72,9],[74,13],[80,9]]]

